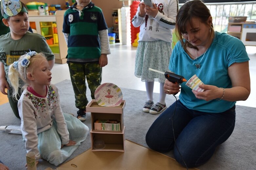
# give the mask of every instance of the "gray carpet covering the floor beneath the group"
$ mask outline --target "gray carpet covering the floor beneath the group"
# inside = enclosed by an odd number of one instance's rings
[[[56,84],[59,88],[62,110],[65,113],[76,113],[74,94],[69,80]],[[121,88],[123,99],[126,100],[124,110],[124,124],[126,126],[126,139],[147,147],[145,135],[149,126],[158,117],[142,111],[146,92]],[[90,94],[87,92],[87,94]],[[89,95],[88,95],[89,96]],[[90,97],[88,98],[90,99]],[[158,94],[154,93],[154,99]],[[175,101],[171,95],[167,95],[167,106]],[[9,103],[0,106],[0,126],[20,125],[11,111]],[[254,110],[254,111],[253,111]],[[76,114],[75,114],[76,115]],[[85,124],[91,128],[90,114],[87,114]],[[201,170],[253,170],[256,169],[256,113],[255,108],[237,106],[236,126],[230,138],[220,145],[213,157],[204,165],[199,166]],[[9,166],[10,170],[25,170],[26,149],[22,135],[0,132],[0,160]],[[91,147],[90,135],[67,161],[83,153]],[[172,151],[165,153],[173,157]],[[85,160],[86,161],[86,160]],[[41,160],[37,169],[44,170],[47,167],[56,169],[56,166]],[[85,167],[86,169],[86,167]],[[104,169],[104,167],[102,168]],[[116,168],[115,168],[116,169]],[[117,168],[118,169],[118,168]]]

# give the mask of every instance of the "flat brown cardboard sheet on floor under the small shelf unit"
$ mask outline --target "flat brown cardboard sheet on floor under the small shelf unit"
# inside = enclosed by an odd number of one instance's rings
[[[95,151],[91,149],[59,166],[56,170],[185,170],[173,158],[126,140],[125,152]],[[46,170],[51,170],[47,168]],[[189,168],[189,170],[198,170]]]

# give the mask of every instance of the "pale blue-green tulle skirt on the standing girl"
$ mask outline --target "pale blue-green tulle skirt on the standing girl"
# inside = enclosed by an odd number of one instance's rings
[[[140,41],[136,51],[134,75],[141,78],[142,82],[164,83],[166,78],[163,74],[150,71],[148,68],[168,71],[171,52],[170,42]]]

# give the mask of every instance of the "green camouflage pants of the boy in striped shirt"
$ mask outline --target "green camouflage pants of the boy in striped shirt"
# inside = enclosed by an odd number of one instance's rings
[[[75,93],[75,106],[78,109],[86,109],[88,99],[86,97],[86,80],[91,91],[91,99],[94,98],[96,88],[101,84],[102,68],[97,62],[68,63],[69,73]]]

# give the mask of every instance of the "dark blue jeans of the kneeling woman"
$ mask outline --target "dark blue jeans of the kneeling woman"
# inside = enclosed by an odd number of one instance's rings
[[[173,149],[177,162],[195,167],[207,162],[215,148],[225,142],[235,127],[235,105],[223,113],[188,109],[180,100],[167,108],[151,125],[146,135],[148,147],[158,152]],[[174,147],[173,129],[176,139]],[[178,149],[177,149],[178,147]],[[181,154],[179,154],[179,152]],[[183,159],[183,160],[182,160]]]

